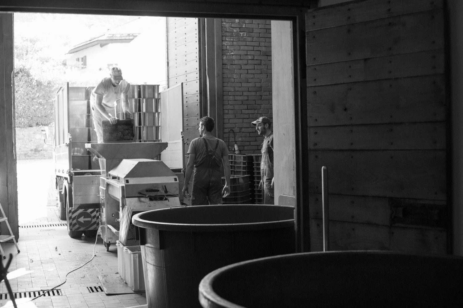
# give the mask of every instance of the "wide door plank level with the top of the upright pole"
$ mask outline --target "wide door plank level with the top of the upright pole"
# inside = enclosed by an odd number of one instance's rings
[[[334,194],[446,199],[445,151],[309,151],[309,191],[321,193],[322,166]]]

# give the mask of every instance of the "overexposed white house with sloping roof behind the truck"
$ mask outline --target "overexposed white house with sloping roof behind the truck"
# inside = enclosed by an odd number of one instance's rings
[[[96,83],[109,68],[119,66],[128,82],[162,89],[167,75],[165,38],[165,17],[138,17],[72,47],[66,54],[68,73]]]

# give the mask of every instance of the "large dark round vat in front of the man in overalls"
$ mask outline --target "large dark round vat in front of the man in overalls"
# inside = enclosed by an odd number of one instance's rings
[[[235,262],[295,252],[294,207],[202,205],[146,211],[139,227],[148,307],[201,307],[198,285]]]

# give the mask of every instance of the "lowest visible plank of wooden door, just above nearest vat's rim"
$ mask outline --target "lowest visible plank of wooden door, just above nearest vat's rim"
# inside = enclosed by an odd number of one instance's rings
[[[323,250],[323,226],[310,220],[312,251]],[[438,228],[386,227],[375,224],[330,222],[330,250],[395,250],[415,254],[445,254],[447,233]]]

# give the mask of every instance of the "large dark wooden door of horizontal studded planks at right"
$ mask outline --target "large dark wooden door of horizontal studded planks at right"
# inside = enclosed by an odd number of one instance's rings
[[[323,248],[322,166],[331,250],[448,251],[444,18],[442,0],[307,13],[312,251]]]

